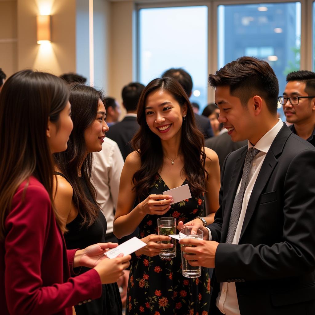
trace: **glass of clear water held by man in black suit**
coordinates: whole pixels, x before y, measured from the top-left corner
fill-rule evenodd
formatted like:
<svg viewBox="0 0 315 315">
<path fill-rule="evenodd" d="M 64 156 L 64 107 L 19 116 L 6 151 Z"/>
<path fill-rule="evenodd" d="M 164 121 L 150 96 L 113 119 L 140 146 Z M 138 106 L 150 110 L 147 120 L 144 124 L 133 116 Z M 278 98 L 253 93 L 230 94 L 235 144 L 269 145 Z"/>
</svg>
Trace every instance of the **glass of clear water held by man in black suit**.
<svg viewBox="0 0 315 315">
<path fill-rule="evenodd" d="M 196 231 L 196 234 L 192 234 L 192 229 Z M 179 239 L 186 239 L 186 238 L 194 238 L 194 239 L 203 239 L 203 232 L 196 227 L 187 226 L 180 230 L 179 232 Z M 180 245 L 182 249 L 184 246 L 191 246 L 195 247 L 195 245 Z M 181 265 L 183 270 L 183 276 L 186 278 L 198 278 L 201 276 L 201 266 L 191 266 L 188 263 L 188 260 L 184 257 L 184 252 L 181 251 Z"/>
</svg>

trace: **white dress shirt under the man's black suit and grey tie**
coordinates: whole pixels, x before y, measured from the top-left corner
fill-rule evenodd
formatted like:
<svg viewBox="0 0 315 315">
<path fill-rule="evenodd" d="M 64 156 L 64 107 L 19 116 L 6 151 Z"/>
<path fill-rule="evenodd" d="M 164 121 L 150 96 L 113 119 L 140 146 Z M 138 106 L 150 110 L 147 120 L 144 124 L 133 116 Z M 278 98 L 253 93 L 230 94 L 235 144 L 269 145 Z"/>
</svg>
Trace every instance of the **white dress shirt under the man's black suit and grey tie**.
<svg viewBox="0 0 315 315">
<path fill-rule="evenodd" d="M 248 141 L 248 149 L 254 147 L 255 149 L 260 150 L 253 159 L 252 165 L 249 169 L 248 174 L 248 185 L 244 192 L 244 198 L 242 203 L 242 209 L 241 214 L 238 219 L 238 225 L 236 227 L 235 235 L 232 241 L 232 244 L 238 244 L 243 222 L 246 214 L 247 205 L 249 202 L 249 198 L 251 195 L 251 192 L 254 188 L 256 179 L 258 177 L 258 174 L 260 172 L 261 166 L 265 160 L 266 154 L 268 150 L 270 149 L 270 146 L 275 139 L 276 135 L 280 131 L 280 129 L 283 127 L 283 122 L 281 119 L 279 119 L 278 123 L 276 123 L 272 129 L 270 129 L 264 136 L 261 137 L 261 139 L 256 143 L 255 146 L 253 146 Z M 236 194 L 238 194 L 241 182 L 239 182 L 238 189 Z M 211 232 L 209 230 L 209 240 L 211 240 Z M 237 299 L 237 293 L 236 293 L 236 287 L 234 282 L 223 282 L 220 283 L 220 292 L 216 299 L 216 306 L 219 308 L 220 312 L 226 315 L 240 315 L 239 306 L 238 306 L 238 299 Z"/>
</svg>

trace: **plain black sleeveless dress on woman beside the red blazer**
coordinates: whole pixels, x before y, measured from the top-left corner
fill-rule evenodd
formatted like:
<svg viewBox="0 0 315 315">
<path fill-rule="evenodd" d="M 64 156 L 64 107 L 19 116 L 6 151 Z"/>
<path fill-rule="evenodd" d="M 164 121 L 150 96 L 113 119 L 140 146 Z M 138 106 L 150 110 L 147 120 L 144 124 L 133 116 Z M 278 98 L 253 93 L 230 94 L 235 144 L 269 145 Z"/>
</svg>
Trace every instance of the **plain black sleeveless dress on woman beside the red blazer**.
<svg viewBox="0 0 315 315">
<path fill-rule="evenodd" d="M 64 177 L 61 173 L 56 174 Z M 67 179 L 66 179 L 67 180 Z M 93 202 L 88 186 L 83 177 L 79 178 L 87 198 Z M 83 249 L 96 243 L 105 243 L 105 234 L 107 229 L 106 218 L 99 210 L 98 218 L 90 226 L 82 226 L 83 219 L 80 214 L 66 225 L 68 232 L 65 233 L 67 249 Z M 90 270 L 88 267 L 82 267 L 79 274 Z M 89 303 L 74 306 L 77 315 L 121 315 L 122 304 L 117 283 L 103 284 L 102 295 L 99 299 L 92 300 Z"/>
</svg>

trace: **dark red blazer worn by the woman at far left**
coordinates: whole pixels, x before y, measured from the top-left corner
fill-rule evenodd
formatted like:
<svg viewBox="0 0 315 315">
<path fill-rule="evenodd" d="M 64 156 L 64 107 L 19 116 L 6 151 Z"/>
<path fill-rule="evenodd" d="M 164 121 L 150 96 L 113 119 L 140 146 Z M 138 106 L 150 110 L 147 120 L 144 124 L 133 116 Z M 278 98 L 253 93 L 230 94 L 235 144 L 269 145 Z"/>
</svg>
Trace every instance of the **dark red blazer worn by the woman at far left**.
<svg viewBox="0 0 315 315">
<path fill-rule="evenodd" d="M 98 273 L 88 272 L 69 278 L 62 283 L 63 266 L 60 257 L 49 256 L 50 248 L 57 240 L 48 236 L 49 227 L 55 222 L 48 193 L 43 187 L 29 186 L 26 191 L 18 191 L 12 210 L 5 220 L 5 295 L 10 314 L 52 314 L 87 299 L 101 295 L 101 282 Z M 56 228 L 56 227 L 55 227 Z M 56 233 L 57 235 L 57 233 Z M 61 235 L 60 235 L 61 236 Z M 62 243 L 62 242 L 60 242 Z M 55 246 L 57 253 L 62 245 Z M 45 256 L 43 253 L 46 252 Z M 75 251 L 71 253 L 74 255 Z M 42 266 L 51 264 L 52 274 L 61 274 L 50 286 L 43 286 Z M 58 259 L 55 261 L 55 259 Z M 56 269 L 61 269 L 56 273 Z M 65 268 L 66 269 L 66 268 Z M 58 283 L 59 282 L 59 283 Z"/>
</svg>

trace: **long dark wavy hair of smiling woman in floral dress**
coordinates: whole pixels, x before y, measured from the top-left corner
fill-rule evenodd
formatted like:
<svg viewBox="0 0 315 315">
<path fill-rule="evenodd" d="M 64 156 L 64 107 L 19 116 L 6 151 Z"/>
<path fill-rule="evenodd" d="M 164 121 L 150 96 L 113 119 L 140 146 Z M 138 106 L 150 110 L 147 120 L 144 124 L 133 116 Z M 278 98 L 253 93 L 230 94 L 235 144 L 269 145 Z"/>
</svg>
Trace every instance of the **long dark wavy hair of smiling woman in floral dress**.
<svg viewBox="0 0 315 315">
<path fill-rule="evenodd" d="M 137 121 L 139 131 L 132 139 L 132 145 L 141 159 L 141 167 L 133 175 L 134 189 L 138 198 L 146 198 L 154 184 L 154 177 L 163 165 L 161 139 L 154 134 L 146 123 L 145 106 L 150 93 L 163 90 L 174 97 L 181 107 L 187 106 L 186 120 L 181 127 L 180 150 L 184 157 L 184 171 L 192 194 L 198 196 L 205 192 L 206 154 L 204 153 L 203 135 L 196 127 L 192 105 L 182 86 L 173 78 L 157 78 L 152 80 L 142 91 L 138 103 Z"/>
</svg>

